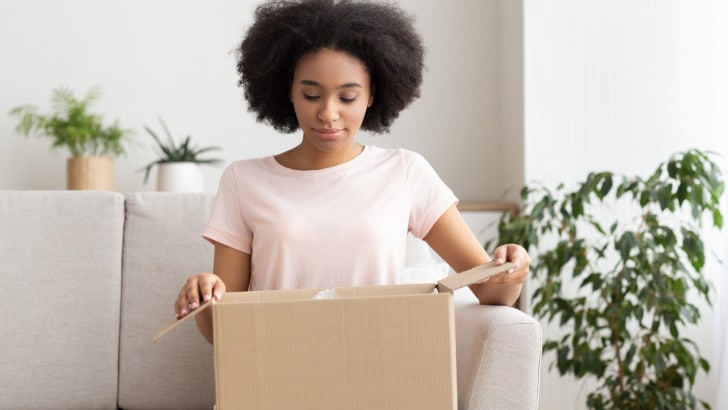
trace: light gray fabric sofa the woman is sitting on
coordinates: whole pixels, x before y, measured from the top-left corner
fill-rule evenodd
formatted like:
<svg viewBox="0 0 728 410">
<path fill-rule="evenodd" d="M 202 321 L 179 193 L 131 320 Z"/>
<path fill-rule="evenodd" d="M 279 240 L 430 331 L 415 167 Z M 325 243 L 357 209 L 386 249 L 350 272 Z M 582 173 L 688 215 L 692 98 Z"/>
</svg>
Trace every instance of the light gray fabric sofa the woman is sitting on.
<svg viewBox="0 0 728 410">
<path fill-rule="evenodd" d="M 210 409 L 212 347 L 157 344 L 189 274 L 212 266 L 207 194 L 0 191 L 0 409 Z M 541 331 L 456 292 L 460 409 L 534 409 Z"/>
</svg>

